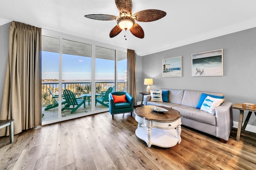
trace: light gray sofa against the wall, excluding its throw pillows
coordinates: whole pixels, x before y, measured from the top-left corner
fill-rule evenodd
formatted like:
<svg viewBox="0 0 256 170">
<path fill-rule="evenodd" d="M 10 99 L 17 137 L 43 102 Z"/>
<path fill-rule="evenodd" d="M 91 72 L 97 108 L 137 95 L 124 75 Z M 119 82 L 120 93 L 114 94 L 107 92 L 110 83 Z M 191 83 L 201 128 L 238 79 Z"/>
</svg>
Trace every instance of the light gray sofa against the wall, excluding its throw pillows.
<svg viewBox="0 0 256 170">
<path fill-rule="evenodd" d="M 195 90 L 160 90 L 169 90 L 168 102 L 152 102 L 150 101 L 150 95 L 145 95 L 144 106 L 155 105 L 176 109 L 183 116 L 181 119 L 182 125 L 218 137 L 220 138 L 220 141 L 224 143 L 228 141 L 233 127 L 232 103 L 223 102 L 220 106 L 216 107 L 215 115 L 196 108 L 202 93 L 214 96 L 224 96 L 223 93 L 201 92 Z"/>
</svg>

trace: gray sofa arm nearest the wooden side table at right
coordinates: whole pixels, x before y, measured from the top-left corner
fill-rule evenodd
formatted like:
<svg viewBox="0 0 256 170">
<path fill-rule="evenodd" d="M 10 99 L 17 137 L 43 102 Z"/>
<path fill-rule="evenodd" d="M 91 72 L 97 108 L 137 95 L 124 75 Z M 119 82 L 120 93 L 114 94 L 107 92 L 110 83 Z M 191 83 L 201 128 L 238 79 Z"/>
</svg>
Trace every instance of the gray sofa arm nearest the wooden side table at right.
<svg viewBox="0 0 256 170">
<path fill-rule="evenodd" d="M 231 102 L 223 102 L 215 109 L 216 137 L 228 141 L 233 127 L 233 109 Z"/>
</svg>

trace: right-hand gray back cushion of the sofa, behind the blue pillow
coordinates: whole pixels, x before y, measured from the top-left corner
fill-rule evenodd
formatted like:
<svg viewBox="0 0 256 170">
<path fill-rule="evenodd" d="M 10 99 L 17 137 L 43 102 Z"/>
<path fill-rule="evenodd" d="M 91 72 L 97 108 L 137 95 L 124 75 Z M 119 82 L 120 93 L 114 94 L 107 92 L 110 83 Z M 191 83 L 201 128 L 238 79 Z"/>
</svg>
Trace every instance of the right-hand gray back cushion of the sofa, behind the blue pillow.
<svg viewBox="0 0 256 170">
<path fill-rule="evenodd" d="M 201 92 L 196 90 L 184 90 L 182 105 L 196 107 L 201 98 L 202 93 L 211 94 L 214 96 L 224 96 L 223 93 L 214 93 L 214 92 Z"/>
</svg>

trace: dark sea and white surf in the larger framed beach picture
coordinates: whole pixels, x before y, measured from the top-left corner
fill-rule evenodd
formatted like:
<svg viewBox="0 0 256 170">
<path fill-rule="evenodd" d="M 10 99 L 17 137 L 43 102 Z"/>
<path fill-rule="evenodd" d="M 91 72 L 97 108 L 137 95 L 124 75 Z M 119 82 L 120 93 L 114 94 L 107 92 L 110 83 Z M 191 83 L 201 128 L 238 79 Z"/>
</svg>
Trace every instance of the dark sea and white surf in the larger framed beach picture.
<svg viewBox="0 0 256 170">
<path fill-rule="evenodd" d="M 222 67 L 222 57 L 221 55 L 218 55 L 213 57 L 205 57 L 201 59 L 193 59 L 192 63 L 193 63 L 192 65 L 193 69 Z"/>
</svg>

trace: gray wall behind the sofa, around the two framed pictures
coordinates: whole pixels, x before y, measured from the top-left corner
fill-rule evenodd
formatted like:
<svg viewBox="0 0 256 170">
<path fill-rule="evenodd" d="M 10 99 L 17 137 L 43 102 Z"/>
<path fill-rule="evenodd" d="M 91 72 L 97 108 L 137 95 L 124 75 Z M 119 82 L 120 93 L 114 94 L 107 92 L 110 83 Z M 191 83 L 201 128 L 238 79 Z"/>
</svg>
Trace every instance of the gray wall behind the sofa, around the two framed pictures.
<svg viewBox="0 0 256 170">
<path fill-rule="evenodd" d="M 191 55 L 216 49 L 223 49 L 224 76 L 192 77 Z M 182 77 L 162 77 L 162 59 L 178 56 L 182 56 Z M 225 100 L 233 104 L 256 104 L 255 64 L 256 28 L 252 28 L 143 56 L 142 78 L 153 78 L 152 90 L 170 88 L 222 92 Z M 145 85 L 142 86 L 146 89 Z M 233 115 L 234 121 L 238 122 L 239 111 L 233 109 Z M 256 126 L 254 114 L 248 125 Z"/>
</svg>

